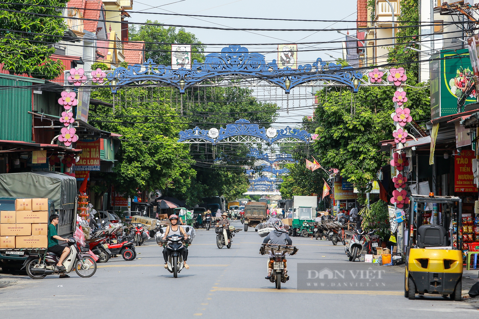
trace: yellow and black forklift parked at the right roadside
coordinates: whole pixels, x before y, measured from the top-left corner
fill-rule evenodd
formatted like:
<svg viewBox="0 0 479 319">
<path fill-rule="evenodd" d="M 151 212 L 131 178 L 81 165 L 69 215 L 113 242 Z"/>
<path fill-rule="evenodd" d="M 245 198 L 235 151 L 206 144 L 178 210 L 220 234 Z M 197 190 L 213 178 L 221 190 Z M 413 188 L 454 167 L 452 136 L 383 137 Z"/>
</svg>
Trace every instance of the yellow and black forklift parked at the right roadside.
<svg viewBox="0 0 479 319">
<path fill-rule="evenodd" d="M 414 194 L 410 200 L 404 296 L 412 300 L 416 294 L 431 294 L 460 301 L 462 200 L 433 193 L 429 196 Z M 424 206 L 427 203 L 442 205 L 440 225 L 427 224 L 421 203 Z M 433 216 L 430 222 L 433 223 Z"/>
</svg>

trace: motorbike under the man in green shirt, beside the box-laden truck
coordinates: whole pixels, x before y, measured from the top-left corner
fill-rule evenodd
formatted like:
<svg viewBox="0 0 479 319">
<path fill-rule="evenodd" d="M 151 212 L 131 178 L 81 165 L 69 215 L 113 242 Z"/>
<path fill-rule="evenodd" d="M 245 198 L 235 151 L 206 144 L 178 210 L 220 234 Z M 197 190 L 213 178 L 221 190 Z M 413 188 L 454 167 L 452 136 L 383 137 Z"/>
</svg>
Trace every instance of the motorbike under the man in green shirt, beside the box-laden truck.
<svg viewBox="0 0 479 319">
<path fill-rule="evenodd" d="M 46 251 L 46 253 L 32 253 L 25 261 L 24 267 L 28 276 L 32 279 L 42 279 L 49 274 L 69 273 L 73 269 L 83 278 L 91 277 L 96 272 L 96 262 L 90 255 L 88 245 L 80 247 L 74 238 L 68 239 L 70 253 L 63 262 L 66 270 L 59 270 L 57 263 L 59 255 Z"/>
</svg>

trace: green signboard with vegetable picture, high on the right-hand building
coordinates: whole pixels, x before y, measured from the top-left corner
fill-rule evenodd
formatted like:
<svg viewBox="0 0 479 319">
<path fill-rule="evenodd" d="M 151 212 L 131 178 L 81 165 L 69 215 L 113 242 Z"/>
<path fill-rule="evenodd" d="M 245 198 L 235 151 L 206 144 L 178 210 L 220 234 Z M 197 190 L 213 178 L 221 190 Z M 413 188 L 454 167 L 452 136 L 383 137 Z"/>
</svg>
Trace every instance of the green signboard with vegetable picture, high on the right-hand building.
<svg viewBox="0 0 479 319">
<path fill-rule="evenodd" d="M 431 118 L 457 114 L 457 100 L 474 82 L 468 49 L 441 50 L 432 56 L 430 67 Z M 476 102 L 476 91 L 467 94 L 464 105 Z M 464 112 L 464 105 L 460 112 Z"/>
</svg>

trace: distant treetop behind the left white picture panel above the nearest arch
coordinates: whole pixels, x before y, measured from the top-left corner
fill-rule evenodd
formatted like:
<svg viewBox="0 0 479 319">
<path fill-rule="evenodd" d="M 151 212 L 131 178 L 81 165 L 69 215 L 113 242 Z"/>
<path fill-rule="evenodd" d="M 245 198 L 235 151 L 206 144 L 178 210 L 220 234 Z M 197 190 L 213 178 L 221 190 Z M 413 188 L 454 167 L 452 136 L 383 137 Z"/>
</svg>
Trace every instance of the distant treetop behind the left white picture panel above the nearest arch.
<svg viewBox="0 0 479 319">
<path fill-rule="evenodd" d="M 147 20 L 147 23 L 158 21 Z M 141 25 L 136 28 L 131 25 L 128 31 L 130 41 L 145 41 L 145 60 L 153 59 L 156 64 L 171 65 L 171 44 L 172 43 L 201 43 L 191 32 L 186 32 L 184 28 L 176 30 L 175 27 L 165 28 L 161 25 Z M 191 46 L 192 63 L 194 60 L 203 62 L 205 46 Z"/>
</svg>

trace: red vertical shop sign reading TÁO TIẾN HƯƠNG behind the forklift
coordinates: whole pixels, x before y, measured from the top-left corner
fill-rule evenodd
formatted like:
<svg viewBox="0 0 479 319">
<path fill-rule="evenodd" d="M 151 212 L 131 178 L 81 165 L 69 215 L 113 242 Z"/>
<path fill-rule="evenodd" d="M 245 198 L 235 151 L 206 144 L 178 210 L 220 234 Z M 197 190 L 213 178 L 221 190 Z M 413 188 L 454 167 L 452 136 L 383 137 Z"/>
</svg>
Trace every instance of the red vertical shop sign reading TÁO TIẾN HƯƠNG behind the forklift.
<svg viewBox="0 0 479 319">
<path fill-rule="evenodd" d="M 472 174 L 472 159 L 475 159 L 474 151 L 463 150 L 454 157 L 454 192 L 470 193 L 477 192 L 474 186 Z"/>
</svg>

